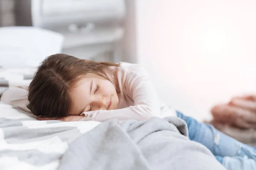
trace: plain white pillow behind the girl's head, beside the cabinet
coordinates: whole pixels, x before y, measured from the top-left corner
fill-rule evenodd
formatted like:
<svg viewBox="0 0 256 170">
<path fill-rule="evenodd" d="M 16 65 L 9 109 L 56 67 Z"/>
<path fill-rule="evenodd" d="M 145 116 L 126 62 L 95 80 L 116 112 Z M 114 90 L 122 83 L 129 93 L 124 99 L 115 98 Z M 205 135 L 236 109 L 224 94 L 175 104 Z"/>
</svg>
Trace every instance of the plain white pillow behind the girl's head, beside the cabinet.
<svg viewBox="0 0 256 170">
<path fill-rule="evenodd" d="M 61 53 L 64 36 L 36 27 L 0 28 L 0 67 L 36 68 L 49 55 Z"/>
</svg>

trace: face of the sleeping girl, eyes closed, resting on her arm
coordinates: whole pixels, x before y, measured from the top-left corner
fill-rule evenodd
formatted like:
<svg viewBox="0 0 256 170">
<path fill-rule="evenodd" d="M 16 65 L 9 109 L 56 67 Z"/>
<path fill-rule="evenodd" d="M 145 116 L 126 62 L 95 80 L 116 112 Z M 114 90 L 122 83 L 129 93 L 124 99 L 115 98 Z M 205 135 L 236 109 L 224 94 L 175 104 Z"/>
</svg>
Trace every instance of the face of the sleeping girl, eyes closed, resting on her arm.
<svg viewBox="0 0 256 170">
<path fill-rule="evenodd" d="M 73 108 L 70 115 L 80 115 L 87 111 L 113 110 L 119 103 L 112 82 L 89 75 L 77 82 L 71 90 Z"/>
</svg>

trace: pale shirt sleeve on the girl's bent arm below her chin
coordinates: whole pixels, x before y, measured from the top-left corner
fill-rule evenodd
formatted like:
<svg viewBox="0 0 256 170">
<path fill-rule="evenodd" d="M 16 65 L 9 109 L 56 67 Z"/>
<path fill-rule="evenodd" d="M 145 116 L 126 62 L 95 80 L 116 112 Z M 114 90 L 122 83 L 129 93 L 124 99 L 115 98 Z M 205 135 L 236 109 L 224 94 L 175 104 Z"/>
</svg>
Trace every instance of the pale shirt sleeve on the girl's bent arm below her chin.
<svg viewBox="0 0 256 170">
<path fill-rule="evenodd" d="M 131 92 L 134 106 L 116 110 L 98 110 L 84 112 L 84 118 L 79 121 L 99 121 L 117 118 L 120 121 L 127 119 L 146 120 L 153 116 L 160 116 L 160 101 L 157 91 L 150 78 L 145 73 L 128 73 L 125 84 L 122 85 L 126 91 Z"/>
</svg>

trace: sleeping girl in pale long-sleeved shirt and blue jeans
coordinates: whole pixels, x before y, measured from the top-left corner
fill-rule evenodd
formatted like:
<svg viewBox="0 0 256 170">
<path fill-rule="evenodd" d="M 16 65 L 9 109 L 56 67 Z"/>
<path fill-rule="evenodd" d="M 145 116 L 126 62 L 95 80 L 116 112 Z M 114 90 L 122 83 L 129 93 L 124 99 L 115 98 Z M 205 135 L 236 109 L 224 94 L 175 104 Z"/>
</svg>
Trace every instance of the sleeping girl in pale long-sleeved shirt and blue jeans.
<svg viewBox="0 0 256 170">
<path fill-rule="evenodd" d="M 253 147 L 164 105 L 138 64 L 51 55 L 39 66 L 27 97 L 27 108 L 38 120 L 104 122 L 177 116 L 186 122 L 189 139 L 206 146 L 228 170 L 256 169 Z"/>
</svg>

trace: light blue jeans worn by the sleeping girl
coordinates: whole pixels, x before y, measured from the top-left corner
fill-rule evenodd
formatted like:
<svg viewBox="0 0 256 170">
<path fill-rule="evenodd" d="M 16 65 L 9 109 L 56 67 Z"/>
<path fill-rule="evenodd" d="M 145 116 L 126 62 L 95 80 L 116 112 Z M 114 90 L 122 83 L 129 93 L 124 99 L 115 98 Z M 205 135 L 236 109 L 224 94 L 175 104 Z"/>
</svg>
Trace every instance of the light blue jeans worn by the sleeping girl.
<svg viewBox="0 0 256 170">
<path fill-rule="evenodd" d="M 221 133 L 212 125 L 199 123 L 178 111 L 177 116 L 188 125 L 189 139 L 206 146 L 228 170 L 256 170 L 256 149 Z"/>
</svg>

